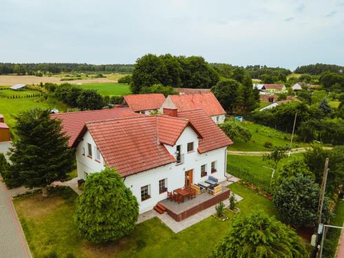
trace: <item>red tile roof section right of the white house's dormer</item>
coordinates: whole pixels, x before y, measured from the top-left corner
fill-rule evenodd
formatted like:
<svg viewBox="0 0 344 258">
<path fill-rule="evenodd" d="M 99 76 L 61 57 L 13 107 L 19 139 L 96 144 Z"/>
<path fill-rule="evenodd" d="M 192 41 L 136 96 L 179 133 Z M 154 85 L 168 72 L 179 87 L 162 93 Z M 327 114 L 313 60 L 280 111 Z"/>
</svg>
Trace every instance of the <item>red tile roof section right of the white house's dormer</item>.
<svg viewBox="0 0 344 258">
<path fill-rule="evenodd" d="M 204 153 L 233 144 L 232 140 L 220 129 L 203 109 L 178 112 L 178 118 L 186 118 L 201 134 L 198 152 Z"/>
</svg>

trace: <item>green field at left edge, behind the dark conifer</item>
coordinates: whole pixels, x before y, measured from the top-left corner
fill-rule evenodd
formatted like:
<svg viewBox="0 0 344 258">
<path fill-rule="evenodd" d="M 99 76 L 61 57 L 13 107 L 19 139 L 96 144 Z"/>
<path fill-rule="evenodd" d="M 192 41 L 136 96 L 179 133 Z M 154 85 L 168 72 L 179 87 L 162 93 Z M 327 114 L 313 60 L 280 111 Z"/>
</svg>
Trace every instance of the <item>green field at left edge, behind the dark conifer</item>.
<svg viewBox="0 0 344 258">
<path fill-rule="evenodd" d="M 67 105 L 55 100 L 54 98 L 47 98 L 47 100 L 41 96 L 24 98 L 31 94 L 41 95 L 40 92 L 32 90 L 23 90 L 19 92 L 14 92 L 11 89 L 0 90 L 0 114 L 5 116 L 5 122 L 10 128 L 15 125 L 14 117 L 17 116 L 19 112 L 27 109 L 39 107 L 43 109 L 58 109 L 63 112 L 67 111 Z M 8 98 L 12 96 L 21 96 L 21 98 Z"/>
</svg>

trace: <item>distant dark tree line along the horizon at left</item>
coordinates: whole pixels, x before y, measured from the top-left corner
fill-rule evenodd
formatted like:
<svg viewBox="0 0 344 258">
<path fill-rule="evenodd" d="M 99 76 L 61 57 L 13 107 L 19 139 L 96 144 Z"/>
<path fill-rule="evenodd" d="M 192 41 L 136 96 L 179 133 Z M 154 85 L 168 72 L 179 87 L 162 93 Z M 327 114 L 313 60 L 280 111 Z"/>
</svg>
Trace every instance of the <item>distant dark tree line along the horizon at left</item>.
<svg viewBox="0 0 344 258">
<path fill-rule="evenodd" d="M 133 65 L 92 65 L 87 63 L 0 63 L 0 74 L 33 75 L 61 72 L 133 72 Z"/>
</svg>

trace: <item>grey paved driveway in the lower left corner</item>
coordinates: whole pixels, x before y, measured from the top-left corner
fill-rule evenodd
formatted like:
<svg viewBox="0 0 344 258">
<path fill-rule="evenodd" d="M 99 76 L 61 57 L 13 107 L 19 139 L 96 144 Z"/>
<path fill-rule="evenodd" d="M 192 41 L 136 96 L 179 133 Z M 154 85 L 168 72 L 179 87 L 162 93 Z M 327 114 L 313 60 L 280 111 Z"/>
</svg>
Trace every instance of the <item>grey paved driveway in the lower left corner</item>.
<svg viewBox="0 0 344 258">
<path fill-rule="evenodd" d="M 30 258 L 30 250 L 14 210 L 12 197 L 0 176 L 0 258 Z"/>
</svg>

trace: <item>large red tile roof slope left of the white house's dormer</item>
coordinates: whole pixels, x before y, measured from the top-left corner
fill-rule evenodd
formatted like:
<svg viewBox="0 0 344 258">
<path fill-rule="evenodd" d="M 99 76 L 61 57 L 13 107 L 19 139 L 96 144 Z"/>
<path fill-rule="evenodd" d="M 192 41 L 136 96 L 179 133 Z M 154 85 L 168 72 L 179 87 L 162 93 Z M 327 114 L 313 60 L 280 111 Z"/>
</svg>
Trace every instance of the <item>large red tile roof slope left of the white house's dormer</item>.
<svg viewBox="0 0 344 258">
<path fill-rule="evenodd" d="M 159 116 L 91 122 L 86 124 L 80 137 L 87 129 L 105 163 L 126 176 L 175 162 L 161 142 L 173 142 L 188 123 L 183 119 Z M 162 131 L 164 125 L 171 125 L 171 128 Z M 171 133 L 171 138 L 166 133 Z"/>
</svg>

